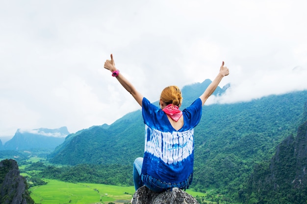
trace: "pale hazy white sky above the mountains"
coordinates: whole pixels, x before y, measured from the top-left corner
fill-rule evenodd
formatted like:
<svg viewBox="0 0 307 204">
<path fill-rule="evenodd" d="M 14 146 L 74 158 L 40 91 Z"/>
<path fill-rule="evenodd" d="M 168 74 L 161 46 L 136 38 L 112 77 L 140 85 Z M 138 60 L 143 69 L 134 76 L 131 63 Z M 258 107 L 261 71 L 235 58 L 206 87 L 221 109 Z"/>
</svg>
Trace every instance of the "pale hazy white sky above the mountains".
<svg viewBox="0 0 307 204">
<path fill-rule="evenodd" d="M 306 0 L 0 0 L 0 136 L 69 132 L 140 109 L 103 63 L 149 100 L 213 80 L 208 104 L 307 89 Z M 183 101 L 184 103 L 184 101 Z"/>
</svg>

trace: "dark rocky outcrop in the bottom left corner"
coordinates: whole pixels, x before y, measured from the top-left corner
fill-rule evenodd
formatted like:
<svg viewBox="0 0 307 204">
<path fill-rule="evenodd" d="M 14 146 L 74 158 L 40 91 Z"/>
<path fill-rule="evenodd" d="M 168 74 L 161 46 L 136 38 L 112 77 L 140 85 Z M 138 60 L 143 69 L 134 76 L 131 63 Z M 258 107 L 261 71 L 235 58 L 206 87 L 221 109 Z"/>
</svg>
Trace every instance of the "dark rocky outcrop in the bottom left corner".
<svg viewBox="0 0 307 204">
<path fill-rule="evenodd" d="M 0 204 L 34 204 L 14 159 L 0 162 Z"/>
</svg>

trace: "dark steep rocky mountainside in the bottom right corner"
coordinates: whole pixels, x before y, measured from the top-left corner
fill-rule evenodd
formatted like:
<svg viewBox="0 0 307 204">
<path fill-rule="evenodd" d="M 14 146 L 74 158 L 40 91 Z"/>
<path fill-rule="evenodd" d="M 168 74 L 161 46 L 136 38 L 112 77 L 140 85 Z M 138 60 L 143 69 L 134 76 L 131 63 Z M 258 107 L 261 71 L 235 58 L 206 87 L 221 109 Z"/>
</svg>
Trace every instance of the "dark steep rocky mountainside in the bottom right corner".
<svg viewBox="0 0 307 204">
<path fill-rule="evenodd" d="M 255 167 L 242 200 L 251 204 L 305 203 L 306 167 L 307 121 L 299 127 L 297 136 L 290 135 L 277 146 L 270 162 L 263 161 Z"/>
</svg>

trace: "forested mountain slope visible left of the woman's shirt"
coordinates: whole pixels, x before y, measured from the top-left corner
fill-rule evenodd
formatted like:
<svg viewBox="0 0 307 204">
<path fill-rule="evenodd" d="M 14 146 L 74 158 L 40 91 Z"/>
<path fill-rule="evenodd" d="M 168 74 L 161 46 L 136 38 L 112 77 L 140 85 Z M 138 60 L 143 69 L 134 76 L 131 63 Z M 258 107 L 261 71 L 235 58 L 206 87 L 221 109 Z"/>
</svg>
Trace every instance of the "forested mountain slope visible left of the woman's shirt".
<svg viewBox="0 0 307 204">
<path fill-rule="evenodd" d="M 128 113 L 107 128 L 93 126 L 67 136 L 51 154 L 51 162 L 70 165 L 130 164 L 136 155 L 142 156 L 143 150 L 138 146 L 143 144 L 143 134 L 141 111 Z"/>
</svg>

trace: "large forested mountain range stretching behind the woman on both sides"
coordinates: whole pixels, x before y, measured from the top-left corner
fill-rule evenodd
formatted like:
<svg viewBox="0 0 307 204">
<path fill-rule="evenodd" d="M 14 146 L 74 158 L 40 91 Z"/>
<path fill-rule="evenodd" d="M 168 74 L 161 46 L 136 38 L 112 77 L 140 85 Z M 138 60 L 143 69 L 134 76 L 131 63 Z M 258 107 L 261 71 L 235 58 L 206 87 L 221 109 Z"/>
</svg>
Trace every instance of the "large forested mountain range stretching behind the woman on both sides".
<svg viewBox="0 0 307 204">
<path fill-rule="evenodd" d="M 182 108 L 199 97 L 209 82 L 183 87 Z M 225 89 L 219 88 L 215 94 L 222 94 Z M 199 191 L 214 188 L 238 196 L 255 165 L 270 159 L 276 146 L 306 119 L 306 101 L 307 91 L 295 91 L 250 102 L 204 106 L 195 128 L 191 187 Z M 132 169 L 134 159 L 144 152 L 142 113 L 138 110 L 109 126 L 82 130 L 67 136 L 64 143 L 50 155 L 51 162 L 121 164 Z"/>
</svg>

